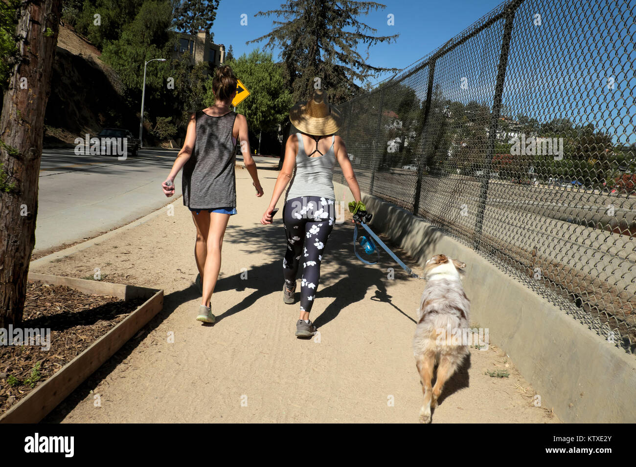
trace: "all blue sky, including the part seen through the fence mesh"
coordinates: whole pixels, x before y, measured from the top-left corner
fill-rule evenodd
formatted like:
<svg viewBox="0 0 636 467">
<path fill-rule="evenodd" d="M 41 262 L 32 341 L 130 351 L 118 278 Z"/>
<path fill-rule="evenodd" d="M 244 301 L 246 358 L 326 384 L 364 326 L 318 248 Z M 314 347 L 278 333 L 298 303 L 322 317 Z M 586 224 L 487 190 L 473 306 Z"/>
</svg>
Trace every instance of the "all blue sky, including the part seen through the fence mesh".
<svg viewBox="0 0 636 467">
<path fill-rule="evenodd" d="M 636 142 L 635 123 L 630 117 L 636 109 L 632 94 L 636 74 L 630 66 L 636 59 L 633 43 L 636 25 L 628 19 L 633 8 L 633 4 L 629 6 L 631 1 L 618 2 L 621 6 L 617 7 L 614 0 L 595 0 L 584 9 L 578 8 L 577 0 L 564 0 L 562 8 L 556 9 L 541 1 L 522 4 L 515 15 L 504 86 L 503 104 L 509 108 L 509 114 L 524 114 L 539 121 L 569 118 L 579 125 L 593 123 L 612 135 L 614 142 Z M 282 0 L 221 0 L 212 27 L 214 42 L 225 44 L 226 48 L 231 44 L 235 56 L 261 48 L 266 41 L 249 45 L 245 41 L 272 30 L 272 22 L 277 18 L 254 17 L 254 14 L 280 8 L 282 3 Z M 391 44 L 371 47 L 367 62 L 408 68 L 501 3 L 385 0 L 386 8 L 357 19 L 377 29 L 375 36 L 399 34 L 399 37 Z M 533 24 L 537 11 L 543 17 L 541 27 Z M 387 24 L 389 14 L 393 15 L 394 25 Z M 241 25 L 241 15 L 247 15 L 247 25 Z M 570 28 L 563 30 L 563 25 Z M 501 20 L 441 58 L 435 79 L 446 98 L 492 103 L 502 27 Z M 275 60 L 279 60 L 279 51 L 273 50 Z M 361 44 L 358 52 L 365 57 L 366 44 Z M 392 74 L 385 72 L 371 83 L 377 84 Z M 422 76 L 413 78 L 420 85 L 414 88 L 419 98 L 424 98 L 421 94 L 425 92 Z M 616 79 L 611 90 L 607 87 L 608 77 Z M 460 88 L 460 79 L 470 83 L 466 90 Z"/>
</svg>

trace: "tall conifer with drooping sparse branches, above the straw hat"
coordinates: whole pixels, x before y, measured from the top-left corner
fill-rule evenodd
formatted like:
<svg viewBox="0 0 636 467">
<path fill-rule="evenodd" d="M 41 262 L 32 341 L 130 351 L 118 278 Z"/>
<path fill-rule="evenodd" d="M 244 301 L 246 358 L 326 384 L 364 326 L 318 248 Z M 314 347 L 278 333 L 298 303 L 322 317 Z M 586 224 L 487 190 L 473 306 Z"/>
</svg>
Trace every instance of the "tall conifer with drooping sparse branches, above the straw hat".
<svg viewBox="0 0 636 467">
<path fill-rule="evenodd" d="M 356 17 L 368 15 L 371 10 L 386 8 L 373 1 L 339 0 L 287 0 L 280 10 L 259 11 L 255 16 L 276 15 L 286 21 L 272 32 L 249 43 L 269 39 L 264 48 L 282 48 L 284 78 L 293 90 L 295 100 L 306 100 L 314 88 L 327 91 L 334 103 L 350 98 L 360 86 L 383 71 L 394 68 L 375 67 L 367 57 L 357 52 L 360 42 L 368 47 L 377 43 L 391 43 L 393 36 L 371 36 L 377 30 Z"/>
</svg>

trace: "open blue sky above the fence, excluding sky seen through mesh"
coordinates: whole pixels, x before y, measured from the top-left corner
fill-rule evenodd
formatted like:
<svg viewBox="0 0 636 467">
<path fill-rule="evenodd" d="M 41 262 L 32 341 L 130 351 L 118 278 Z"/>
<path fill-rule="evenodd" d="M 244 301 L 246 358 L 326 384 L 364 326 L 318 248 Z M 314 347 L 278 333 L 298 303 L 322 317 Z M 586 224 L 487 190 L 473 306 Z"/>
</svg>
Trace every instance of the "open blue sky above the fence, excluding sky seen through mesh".
<svg viewBox="0 0 636 467">
<path fill-rule="evenodd" d="M 249 53 L 260 48 L 266 41 L 245 45 L 245 41 L 263 36 L 273 29 L 275 16 L 254 17 L 258 11 L 276 10 L 282 0 L 221 0 L 216 20 L 212 26 L 214 42 L 232 45 L 234 55 Z M 377 29 L 376 36 L 399 34 L 391 44 L 371 47 L 368 63 L 374 66 L 404 68 L 430 51 L 438 48 L 480 17 L 502 2 L 499 0 L 385 0 L 387 8 L 371 11 L 361 22 Z M 242 26 L 241 15 L 247 15 L 247 25 Z M 387 15 L 394 15 L 395 24 L 387 25 Z M 274 50 L 274 60 L 278 60 L 280 50 Z M 366 56 L 366 44 L 361 44 L 358 52 Z M 372 83 L 391 76 L 385 73 Z"/>
</svg>

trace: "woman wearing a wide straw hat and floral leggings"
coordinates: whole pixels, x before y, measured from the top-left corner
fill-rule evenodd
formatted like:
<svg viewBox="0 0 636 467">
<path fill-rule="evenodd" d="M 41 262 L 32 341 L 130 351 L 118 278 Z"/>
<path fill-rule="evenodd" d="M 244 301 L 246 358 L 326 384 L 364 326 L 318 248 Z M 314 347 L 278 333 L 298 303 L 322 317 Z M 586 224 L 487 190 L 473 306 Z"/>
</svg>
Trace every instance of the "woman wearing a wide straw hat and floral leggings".
<svg viewBox="0 0 636 467">
<path fill-rule="evenodd" d="M 296 273 L 302 263 L 296 336 L 310 337 L 315 334 L 316 328 L 309 320 L 309 313 L 320 280 L 324 249 L 335 224 L 333 168 L 336 161 L 356 202 L 361 201 L 360 187 L 345 144 L 335 135 L 342 117 L 337 109 L 329 105 L 324 91 L 315 90 L 310 100 L 294 105 L 289 111 L 289 120 L 300 133 L 287 139 L 284 163 L 261 224 L 272 223 L 273 210 L 289 184 L 282 210 L 287 236 L 282 262 L 285 278 L 283 300 L 287 304 L 294 303 Z"/>
</svg>

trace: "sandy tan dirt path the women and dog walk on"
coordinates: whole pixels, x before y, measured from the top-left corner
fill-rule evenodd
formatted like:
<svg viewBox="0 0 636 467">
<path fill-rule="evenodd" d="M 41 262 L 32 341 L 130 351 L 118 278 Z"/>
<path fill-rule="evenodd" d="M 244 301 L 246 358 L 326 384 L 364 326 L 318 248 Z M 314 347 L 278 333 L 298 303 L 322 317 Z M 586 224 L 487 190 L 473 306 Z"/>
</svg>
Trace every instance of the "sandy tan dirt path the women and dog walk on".
<svg viewBox="0 0 636 467">
<path fill-rule="evenodd" d="M 411 339 L 422 282 L 382 255 L 364 266 L 351 249 L 352 226 L 336 226 L 322 266 L 312 320 L 319 339 L 294 337 L 298 304 L 282 303 L 284 233 L 259 224 L 277 172 L 261 170 L 254 197 L 237 170 L 239 214 L 223 242 L 212 296 L 214 326 L 195 321 L 194 226 L 181 198 L 174 216 L 145 224 L 32 271 L 163 288 L 163 311 L 45 421 L 416 422 L 422 391 Z M 282 203 L 280 205 L 282 207 Z M 396 278 L 387 278 L 395 267 Z M 241 279 L 241 269 L 247 279 Z M 170 337 L 174 336 L 174 342 Z M 508 369 L 508 378 L 485 375 Z M 101 407 L 95 407 L 95 395 Z M 534 391 L 501 349 L 471 349 L 448 382 L 433 423 L 555 423 L 532 405 Z"/>
</svg>

